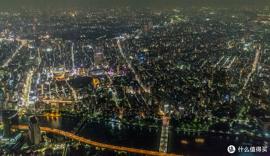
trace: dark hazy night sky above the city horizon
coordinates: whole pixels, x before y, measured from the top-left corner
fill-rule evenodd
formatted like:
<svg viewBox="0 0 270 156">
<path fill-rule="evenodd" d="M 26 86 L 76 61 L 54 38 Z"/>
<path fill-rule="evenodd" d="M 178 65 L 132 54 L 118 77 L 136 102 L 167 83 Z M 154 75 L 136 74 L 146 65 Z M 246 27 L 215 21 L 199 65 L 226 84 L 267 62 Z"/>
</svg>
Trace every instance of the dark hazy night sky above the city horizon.
<svg viewBox="0 0 270 156">
<path fill-rule="evenodd" d="M 242 7 L 270 6 L 270 0 L 0 0 L 0 6 L 14 7 Z"/>
</svg>

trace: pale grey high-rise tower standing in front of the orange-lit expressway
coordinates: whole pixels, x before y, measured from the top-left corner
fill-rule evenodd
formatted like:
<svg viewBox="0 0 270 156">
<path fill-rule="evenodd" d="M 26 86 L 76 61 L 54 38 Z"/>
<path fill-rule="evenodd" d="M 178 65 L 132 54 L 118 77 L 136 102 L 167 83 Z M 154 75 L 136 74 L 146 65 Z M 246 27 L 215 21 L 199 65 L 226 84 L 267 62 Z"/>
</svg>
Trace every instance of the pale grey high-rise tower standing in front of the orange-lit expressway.
<svg viewBox="0 0 270 156">
<path fill-rule="evenodd" d="M 39 144 L 41 142 L 41 133 L 36 117 L 29 118 L 29 137 L 32 144 Z"/>
</svg>

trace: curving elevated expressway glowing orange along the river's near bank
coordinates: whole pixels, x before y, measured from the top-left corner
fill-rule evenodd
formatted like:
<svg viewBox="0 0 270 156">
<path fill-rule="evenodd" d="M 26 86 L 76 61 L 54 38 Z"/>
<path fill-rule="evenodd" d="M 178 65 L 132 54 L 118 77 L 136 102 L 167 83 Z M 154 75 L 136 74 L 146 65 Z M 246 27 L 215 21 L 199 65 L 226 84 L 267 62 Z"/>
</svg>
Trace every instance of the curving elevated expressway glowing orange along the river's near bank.
<svg viewBox="0 0 270 156">
<path fill-rule="evenodd" d="M 28 126 L 12 126 L 12 128 L 14 128 L 14 129 L 28 129 Z M 74 134 L 69 133 L 69 132 L 65 132 L 65 131 L 61 131 L 61 130 L 57 130 L 57 129 L 51 129 L 51 128 L 47 128 L 47 127 L 40 127 L 40 130 L 49 131 L 49 132 L 53 132 L 53 133 L 58 133 L 60 135 L 63 135 L 63 136 L 78 140 L 78 141 L 86 143 L 86 144 L 90 144 L 90 145 L 94 145 L 94 146 L 98 146 L 98 147 L 102 147 L 102 148 L 109 148 L 109 149 L 112 149 L 112 150 L 141 153 L 141 154 L 146 154 L 146 155 L 180 156 L 180 155 L 174 155 L 174 154 L 166 154 L 166 153 L 160 153 L 160 152 L 153 152 L 153 151 L 138 150 L 138 149 L 133 149 L 133 148 L 125 148 L 125 147 L 118 147 L 118 146 L 100 144 L 100 143 L 96 143 L 94 141 L 87 140 L 85 138 L 75 136 Z"/>
</svg>

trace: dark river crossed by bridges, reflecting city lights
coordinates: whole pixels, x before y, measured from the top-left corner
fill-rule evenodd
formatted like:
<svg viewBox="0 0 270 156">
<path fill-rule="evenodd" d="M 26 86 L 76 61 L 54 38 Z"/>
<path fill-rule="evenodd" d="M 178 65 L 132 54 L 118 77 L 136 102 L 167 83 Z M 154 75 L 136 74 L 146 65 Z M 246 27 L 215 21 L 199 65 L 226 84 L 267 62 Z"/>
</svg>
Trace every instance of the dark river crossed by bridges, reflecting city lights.
<svg viewBox="0 0 270 156">
<path fill-rule="evenodd" d="M 28 125 L 28 118 L 29 116 L 26 115 L 19 116 L 20 125 Z M 42 127 L 50 127 L 68 132 L 71 132 L 80 121 L 80 118 L 47 116 L 36 118 Z M 77 133 L 77 136 L 99 143 L 158 151 L 160 134 L 161 130 L 156 129 L 117 125 L 97 120 L 87 120 Z M 204 142 L 197 143 L 195 142 L 196 138 L 204 139 Z M 188 141 L 188 144 L 182 144 L 181 140 Z M 250 145 L 245 145 L 246 143 Z M 219 133 L 205 134 L 170 130 L 168 134 L 167 153 L 184 156 L 269 156 L 270 149 L 267 150 L 267 152 L 244 152 L 244 150 L 243 152 L 238 152 L 238 147 L 241 146 L 242 148 L 247 146 L 249 149 L 251 146 L 268 147 L 268 144 L 269 141 L 265 142 L 259 139 L 250 139 L 245 136 L 228 137 L 226 134 Z M 234 145 L 236 148 L 236 151 L 232 154 L 227 151 L 229 145 Z"/>
</svg>

